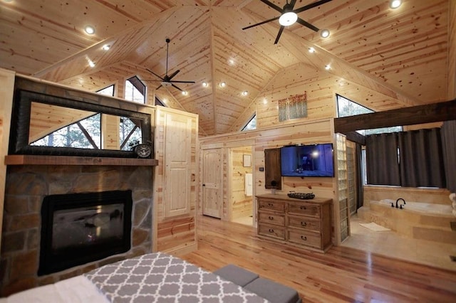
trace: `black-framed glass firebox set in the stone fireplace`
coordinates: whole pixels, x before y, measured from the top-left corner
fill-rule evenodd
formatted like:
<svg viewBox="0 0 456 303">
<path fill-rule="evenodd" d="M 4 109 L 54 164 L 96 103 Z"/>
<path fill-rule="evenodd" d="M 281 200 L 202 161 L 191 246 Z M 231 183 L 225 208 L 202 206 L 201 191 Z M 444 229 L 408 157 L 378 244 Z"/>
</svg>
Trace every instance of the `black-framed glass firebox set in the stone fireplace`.
<svg viewBox="0 0 456 303">
<path fill-rule="evenodd" d="M 130 190 L 44 197 L 38 275 L 130 250 L 132 205 Z"/>
</svg>

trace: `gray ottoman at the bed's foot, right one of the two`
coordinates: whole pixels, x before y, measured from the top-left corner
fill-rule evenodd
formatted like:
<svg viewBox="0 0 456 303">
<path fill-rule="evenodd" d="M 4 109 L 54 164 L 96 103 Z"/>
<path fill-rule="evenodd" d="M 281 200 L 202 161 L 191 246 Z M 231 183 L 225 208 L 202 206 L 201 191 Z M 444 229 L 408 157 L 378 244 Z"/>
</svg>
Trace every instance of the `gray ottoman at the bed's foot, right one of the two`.
<svg viewBox="0 0 456 303">
<path fill-rule="evenodd" d="M 258 294 L 260 297 L 263 297 L 271 303 L 301 302 L 299 294 L 296 290 L 261 277 L 244 286 L 244 289 Z"/>
</svg>

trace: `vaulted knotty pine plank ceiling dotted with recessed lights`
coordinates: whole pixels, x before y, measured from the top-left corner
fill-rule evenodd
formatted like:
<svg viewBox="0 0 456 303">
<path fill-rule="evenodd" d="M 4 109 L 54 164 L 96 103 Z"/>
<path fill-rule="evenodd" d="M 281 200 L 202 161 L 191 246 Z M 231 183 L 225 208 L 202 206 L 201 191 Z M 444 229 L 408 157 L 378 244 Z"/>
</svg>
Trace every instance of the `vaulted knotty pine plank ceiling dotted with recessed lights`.
<svg viewBox="0 0 456 303">
<path fill-rule="evenodd" d="M 154 90 L 145 68 L 165 75 L 170 38 L 169 74 L 179 69 L 173 80 L 196 83 L 180 85 L 187 96 L 154 91 L 197 113 L 202 134 L 231 131 L 274 75 L 294 65 L 312 73 L 331 63 L 329 73 L 384 92 L 396 107 L 420 105 L 446 100 L 450 1 L 403 0 L 393 10 L 388 0 L 333 0 L 299 14 L 329 38 L 295 24 L 274 45 L 276 22 L 242 30 L 278 16 L 258 0 L 0 0 L 0 67 L 87 90 L 139 75 Z M 83 31 L 89 24 L 93 35 Z"/>
</svg>

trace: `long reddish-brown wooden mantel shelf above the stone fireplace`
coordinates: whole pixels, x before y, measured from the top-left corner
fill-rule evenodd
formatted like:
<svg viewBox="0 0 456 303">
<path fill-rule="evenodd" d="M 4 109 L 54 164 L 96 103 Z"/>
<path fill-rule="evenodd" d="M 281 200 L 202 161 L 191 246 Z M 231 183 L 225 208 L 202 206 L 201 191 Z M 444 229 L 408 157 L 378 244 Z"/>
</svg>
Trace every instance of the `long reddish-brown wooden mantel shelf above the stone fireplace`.
<svg viewBox="0 0 456 303">
<path fill-rule="evenodd" d="M 97 156 L 36 156 L 8 155 L 6 165 L 113 165 L 113 166 L 157 166 L 157 159 L 108 158 Z"/>
</svg>

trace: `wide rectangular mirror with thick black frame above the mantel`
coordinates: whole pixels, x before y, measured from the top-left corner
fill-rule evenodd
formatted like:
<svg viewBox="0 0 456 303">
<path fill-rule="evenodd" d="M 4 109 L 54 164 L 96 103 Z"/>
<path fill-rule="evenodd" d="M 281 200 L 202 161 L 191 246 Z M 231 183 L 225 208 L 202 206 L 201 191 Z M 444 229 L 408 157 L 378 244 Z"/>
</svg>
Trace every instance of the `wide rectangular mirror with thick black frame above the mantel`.
<svg viewBox="0 0 456 303">
<path fill-rule="evenodd" d="M 93 100 L 90 92 L 79 94 Z M 125 110 L 121 100 L 99 98 L 101 104 L 95 104 L 81 96 L 73 99 L 16 87 L 9 154 L 137 157 L 136 144 L 152 144 L 151 116 Z M 107 106 L 106 100 L 119 106 Z"/>
</svg>

